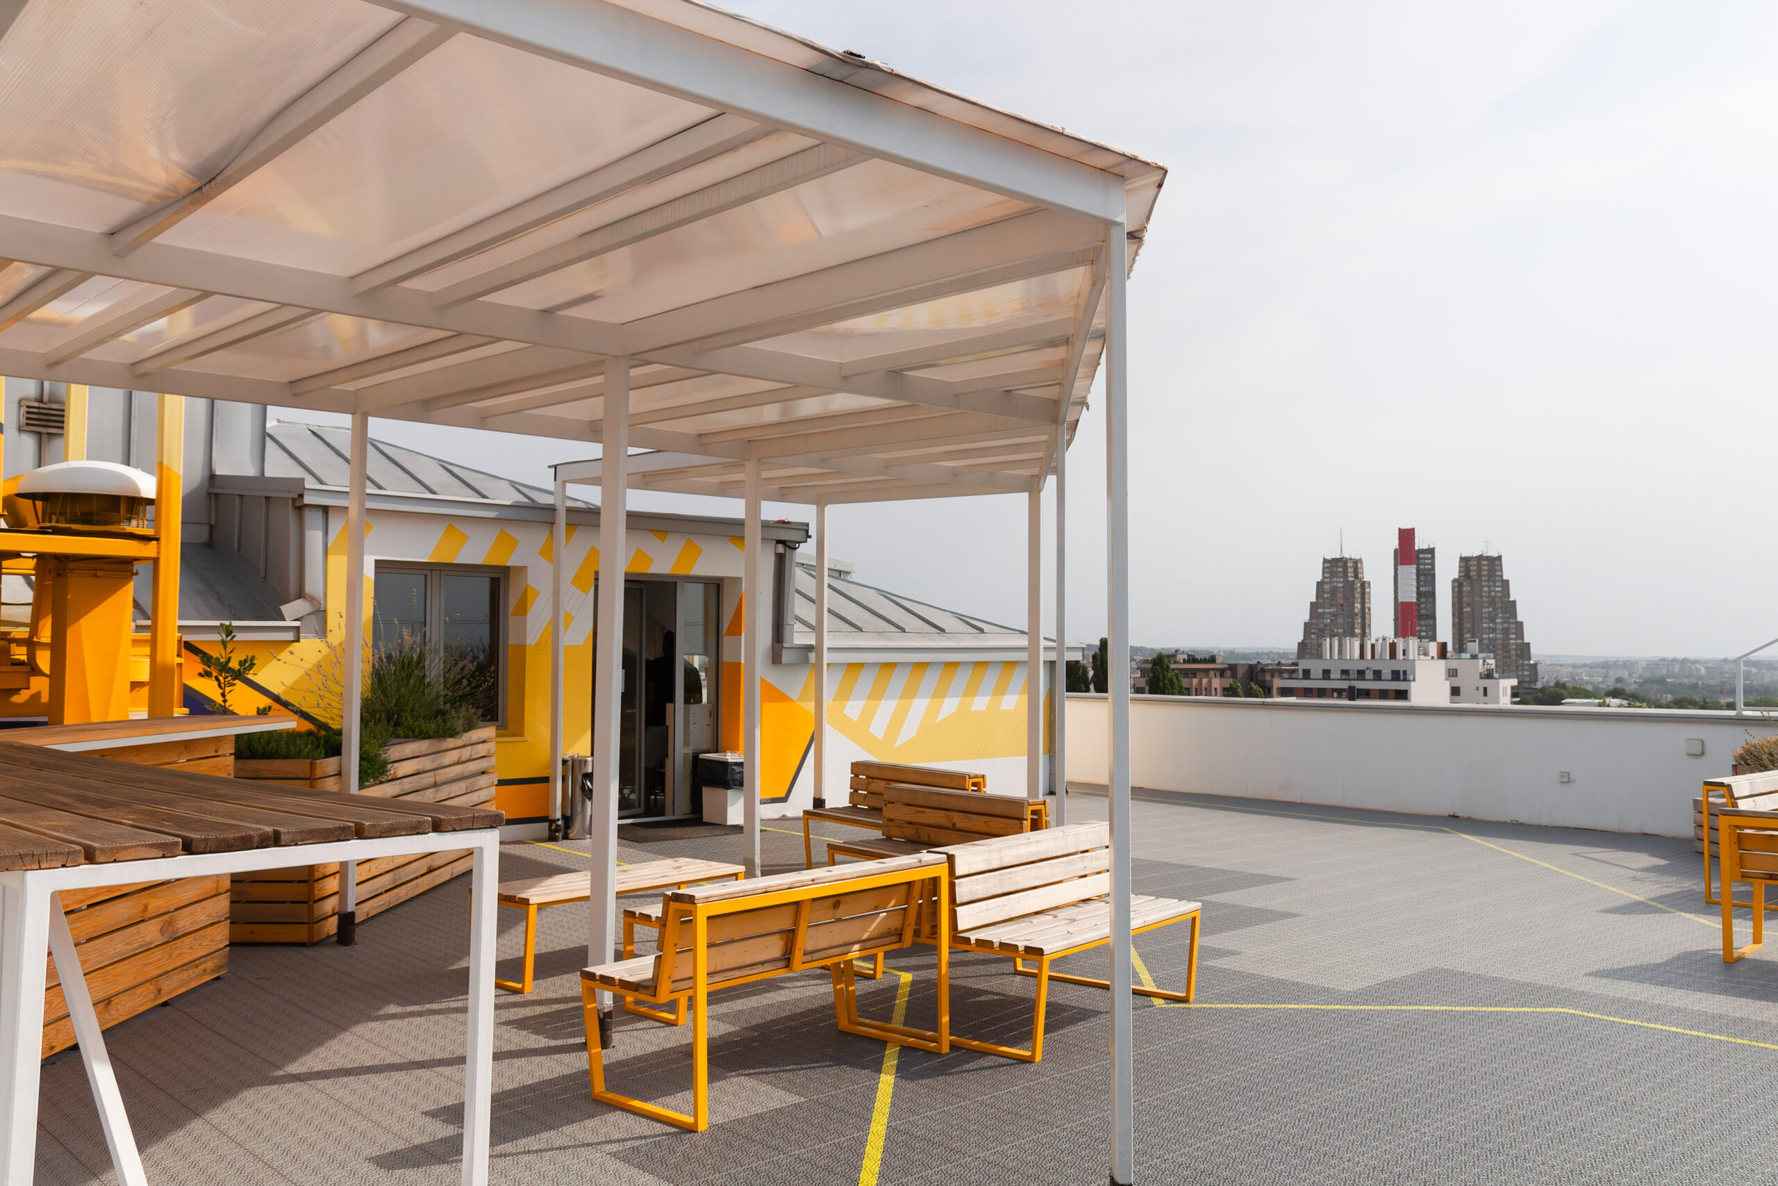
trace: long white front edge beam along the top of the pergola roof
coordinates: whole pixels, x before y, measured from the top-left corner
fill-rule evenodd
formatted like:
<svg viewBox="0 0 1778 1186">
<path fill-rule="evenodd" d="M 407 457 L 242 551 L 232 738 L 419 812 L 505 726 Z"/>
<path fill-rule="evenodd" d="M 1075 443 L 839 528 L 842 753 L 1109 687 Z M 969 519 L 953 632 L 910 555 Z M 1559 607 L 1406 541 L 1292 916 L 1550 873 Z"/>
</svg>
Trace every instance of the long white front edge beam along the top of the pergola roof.
<svg viewBox="0 0 1778 1186">
<path fill-rule="evenodd" d="M 605 0 L 372 2 L 1038 206 L 1101 222 L 1127 217 L 1124 178 L 1117 172 Z M 752 28 L 729 20 L 738 30 Z"/>
</svg>

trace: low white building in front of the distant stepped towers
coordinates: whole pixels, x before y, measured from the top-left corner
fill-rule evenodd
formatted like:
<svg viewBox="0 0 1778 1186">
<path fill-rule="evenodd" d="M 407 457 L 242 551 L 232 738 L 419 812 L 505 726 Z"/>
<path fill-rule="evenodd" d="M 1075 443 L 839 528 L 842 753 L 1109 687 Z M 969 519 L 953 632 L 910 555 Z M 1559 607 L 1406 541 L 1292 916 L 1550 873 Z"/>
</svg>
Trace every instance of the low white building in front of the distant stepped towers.
<svg viewBox="0 0 1778 1186">
<path fill-rule="evenodd" d="M 1277 695 L 1499 708 L 1511 704 L 1513 685 L 1492 658 L 1451 654 L 1426 638 L 1326 638 L 1298 661 L 1294 676 L 1278 681 Z"/>
</svg>

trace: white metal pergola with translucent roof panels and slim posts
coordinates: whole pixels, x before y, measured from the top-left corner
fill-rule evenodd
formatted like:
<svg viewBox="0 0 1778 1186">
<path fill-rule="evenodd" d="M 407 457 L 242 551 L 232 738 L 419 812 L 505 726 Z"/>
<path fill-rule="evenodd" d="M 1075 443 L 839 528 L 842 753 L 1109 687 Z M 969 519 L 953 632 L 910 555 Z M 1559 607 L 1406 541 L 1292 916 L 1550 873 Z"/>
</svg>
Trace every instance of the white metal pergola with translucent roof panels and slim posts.
<svg viewBox="0 0 1778 1186">
<path fill-rule="evenodd" d="M 0 373 L 350 414 L 348 571 L 370 416 L 597 443 L 601 621 L 629 487 L 745 496 L 750 583 L 761 500 L 813 503 L 825 549 L 829 505 L 1022 493 L 1035 557 L 1109 349 L 1127 653 L 1124 286 L 1159 165 L 690 0 L 0 0 Z M 348 581 L 347 621 L 363 596 Z M 617 645 L 601 633 L 606 857 Z M 1115 679 L 1117 1182 L 1127 718 Z M 599 962 L 612 873 L 594 861 Z M 487 1120 L 471 1099 L 466 1170 Z"/>
</svg>

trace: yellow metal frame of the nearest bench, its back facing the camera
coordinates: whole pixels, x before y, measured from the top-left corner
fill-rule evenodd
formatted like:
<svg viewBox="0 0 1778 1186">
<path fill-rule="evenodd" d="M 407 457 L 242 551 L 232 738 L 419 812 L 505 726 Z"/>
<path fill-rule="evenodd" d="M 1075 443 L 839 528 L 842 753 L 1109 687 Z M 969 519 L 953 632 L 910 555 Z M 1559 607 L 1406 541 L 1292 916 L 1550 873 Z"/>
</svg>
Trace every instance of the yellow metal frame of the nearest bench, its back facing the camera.
<svg viewBox="0 0 1778 1186">
<path fill-rule="evenodd" d="M 809 885 L 793 885 L 786 889 L 763 889 L 761 893 L 736 894 L 717 898 L 711 902 L 699 902 L 695 891 L 677 891 L 665 898 L 661 910 L 661 932 L 660 932 L 660 951 L 654 957 L 654 992 L 637 994 L 624 992 L 622 989 L 612 987 L 610 983 L 597 983 L 589 978 L 587 969 L 581 973 L 580 992 L 581 992 L 581 1014 L 587 1026 L 587 1067 L 592 1078 L 592 1097 L 603 1104 L 612 1104 L 613 1108 L 622 1108 L 624 1111 L 633 1111 L 638 1117 L 649 1117 L 651 1120 L 660 1120 L 663 1124 L 672 1124 L 681 1129 L 693 1133 L 702 1133 L 709 1127 L 709 994 L 722 989 L 734 989 L 740 985 L 756 983 L 759 980 L 772 980 L 773 976 L 786 976 L 789 973 L 814 971 L 825 967 L 832 978 L 834 989 L 834 1015 L 841 1031 L 855 1033 L 859 1037 L 875 1038 L 880 1042 L 894 1042 L 896 1046 L 910 1046 L 914 1049 L 930 1051 L 935 1054 L 946 1054 L 951 1049 L 951 1005 L 949 1005 L 949 958 L 946 957 L 949 934 L 941 934 L 939 942 L 939 992 L 937 992 L 937 1030 L 916 1030 L 910 1026 L 898 1026 L 885 1021 L 871 1021 L 859 1017 L 857 990 L 852 971 L 852 960 L 861 957 L 877 955 L 882 951 L 896 951 L 909 948 L 916 941 L 916 923 L 923 914 L 921 903 L 928 894 L 937 894 L 939 902 L 948 902 L 946 898 L 946 862 L 901 866 L 894 869 L 871 871 L 869 868 L 859 868 L 857 877 L 848 877 L 843 880 L 821 880 Z M 761 882 L 772 882 L 777 878 L 761 878 Z M 930 882 L 930 889 L 923 885 Z M 877 889 L 884 885 L 909 885 L 909 903 L 903 909 L 903 921 L 900 934 L 887 935 L 878 942 L 861 942 L 845 951 L 834 951 L 821 955 L 820 958 L 807 960 L 804 953 L 804 941 L 809 932 L 809 919 L 816 902 L 823 898 L 839 898 L 845 894 L 857 894 L 868 889 Z M 749 973 L 736 976 L 733 980 L 720 980 L 709 983 L 709 925 L 713 919 L 741 914 L 747 910 L 761 910 L 768 907 L 795 903 L 797 919 L 791 932 L 789 953 L 784 967 L 772 967 L 757 973 Z M 946 912 L 941 905 L 939 926 L 944 926 Z M 672 967 L 667 964 L 669 953 L 679 951 L 681 935 L 690 930 L 692 944 L 692 982 L 685 989 L 674 989 Z M 773 932 L 777 934 L 777 932 Z M 677 960 L 674 960 L 677 962 Z M 665 974 L 663 974 L 665 973 Z M 670 1108 L 661 1108 L 660 1104 L 651 1104 L 644 1099 L 635 1099 L 621 1092 L 613 1092 L 606 1086 L 605 1079 L 605 1053 L 599 1049 L 599 1021 L 597 1021 L 597 994 L 612 992 L 613 996 L 624 998 L 626 1001 L 645 1001 L 649 1005 L 667 1005 L 669 1001 L 677 1001 L 679 1015 L 690 1005 L 692 1012 L 692 1113 L 674 1111 Z M 660 1019 L 665 1021 L 667 1015 L 661 1012 Z"/>
</svg>

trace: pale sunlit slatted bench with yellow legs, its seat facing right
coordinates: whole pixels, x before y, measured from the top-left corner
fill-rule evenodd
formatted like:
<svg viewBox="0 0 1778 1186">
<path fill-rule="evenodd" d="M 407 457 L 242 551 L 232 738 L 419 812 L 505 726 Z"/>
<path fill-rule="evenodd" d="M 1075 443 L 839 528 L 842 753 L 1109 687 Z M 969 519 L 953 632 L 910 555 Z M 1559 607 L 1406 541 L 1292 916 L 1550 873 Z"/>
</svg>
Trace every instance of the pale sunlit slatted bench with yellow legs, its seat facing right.
<svg viewBox="0 0 1778 1186">
<path fill-rule="evenodd" d="M 951 918 L 944 930 L 951 932 L 951 946 L 1008 957 L 1015 973 L 1037 980 L 1037 1010 L 1028 1049 L 957 1035 L 951 1035 L 951 1044 L 1022 1062 L 1042 1062 L 1049 982 L 1111 987 L 1106 980 L 1051 971 L 1054 960 L 1111 941 L 1108 896 L 1111 829 L 1104 823 L 1070 823 L 933 852 L 944 853 L 949 862 Z M 1131 896 L 1131 934 L 1179 921 L 1191 923 L 1186 990 L 1134 985 L 1133 992 L 1166 1001 L 1191 999 L 1198 978 L 1200 912 L 1197 902 Z M 1035 967 L 1026 967 L 1026 962 L 1033 962 Z"/>
</svg>

